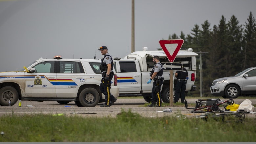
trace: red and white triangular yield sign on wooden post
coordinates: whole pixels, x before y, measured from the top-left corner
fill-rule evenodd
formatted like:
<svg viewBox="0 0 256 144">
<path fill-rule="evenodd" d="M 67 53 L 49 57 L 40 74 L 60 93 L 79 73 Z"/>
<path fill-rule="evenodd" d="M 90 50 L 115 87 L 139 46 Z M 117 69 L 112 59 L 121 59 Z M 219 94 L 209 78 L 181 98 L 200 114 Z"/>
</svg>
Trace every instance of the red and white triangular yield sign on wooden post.
<svg viewBox="0 0 256 144">
<path fill-rule="evenodd" d="M 174 62 L 178 52 L 183 45 L 183 39 L 172 39 L 172 40 L 160 40 L 159 44 L 162 47 L 164 53 L 171 63 Z"/>
</svg>

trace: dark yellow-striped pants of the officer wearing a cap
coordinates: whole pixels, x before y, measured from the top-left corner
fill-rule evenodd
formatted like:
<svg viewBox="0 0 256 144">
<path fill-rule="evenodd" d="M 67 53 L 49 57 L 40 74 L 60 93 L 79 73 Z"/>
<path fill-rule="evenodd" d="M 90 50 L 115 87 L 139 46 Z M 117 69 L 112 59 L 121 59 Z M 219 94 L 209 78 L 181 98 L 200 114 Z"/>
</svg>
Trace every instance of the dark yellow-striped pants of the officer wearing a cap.
<svg viewBox="0 0 256 144">
<path fill-rule="evenodd" d="M 113 78 L 113 75 L 110 75 L 110 80 L 108 83 L 108 86 L 103 86 L 102 81 L 100 82 L 100 91 L 105 95 L 105 104 L 109 105 L 112 100 L 115 99 L 115 97 L 110 93 L 110 86 L 111 86 L 111 80 Z"/>
</svg>

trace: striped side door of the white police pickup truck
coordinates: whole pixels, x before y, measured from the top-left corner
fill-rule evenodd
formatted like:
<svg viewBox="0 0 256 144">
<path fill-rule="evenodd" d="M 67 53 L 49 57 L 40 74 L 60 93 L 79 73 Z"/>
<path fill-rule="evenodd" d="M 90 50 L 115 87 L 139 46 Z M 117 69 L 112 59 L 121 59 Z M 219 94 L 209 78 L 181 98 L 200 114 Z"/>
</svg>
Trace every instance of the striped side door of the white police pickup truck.
<svg viewBox="0 0 256 144">
<path fill-rule="evenodd" d="M 139 65 L 136 65 L 134 61 L 117 61 L 117 64 L 117 84 L 119 93 L 140 93 L 141 73 Z"/>
</svg>

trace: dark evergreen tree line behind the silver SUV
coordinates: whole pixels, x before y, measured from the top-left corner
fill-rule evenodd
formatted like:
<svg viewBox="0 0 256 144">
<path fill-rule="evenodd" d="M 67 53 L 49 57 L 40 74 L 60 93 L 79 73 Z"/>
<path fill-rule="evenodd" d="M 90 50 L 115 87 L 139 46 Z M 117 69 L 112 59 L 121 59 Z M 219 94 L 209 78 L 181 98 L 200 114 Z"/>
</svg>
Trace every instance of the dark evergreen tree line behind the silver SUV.
<svg viewBox="0 0 256 144">
<path fill-rule="evenodd" d="M 208 20 L 199 25 L 195 24 L 187 36 L 175 33 L 168 39 L 183 39 L 182 48 L 192 48 L 194 52 L 202 51 L 203 97 L 212 96 L 210 87 L 213 80 L 221 77 L 234 76 L 237 73 L 256 66 L 256 22 L 250 12 L 245 25 L 239 24 L 232 15 L 229 21 L 222 15 L 219 24 L 210 29 Z M 243 27 L 244 26 L 244 27 Z M 200 96 L 200 70 L 197 58 L 196 82 L 197 91 L 188 93 L 189 96 Z"/>
</svg>

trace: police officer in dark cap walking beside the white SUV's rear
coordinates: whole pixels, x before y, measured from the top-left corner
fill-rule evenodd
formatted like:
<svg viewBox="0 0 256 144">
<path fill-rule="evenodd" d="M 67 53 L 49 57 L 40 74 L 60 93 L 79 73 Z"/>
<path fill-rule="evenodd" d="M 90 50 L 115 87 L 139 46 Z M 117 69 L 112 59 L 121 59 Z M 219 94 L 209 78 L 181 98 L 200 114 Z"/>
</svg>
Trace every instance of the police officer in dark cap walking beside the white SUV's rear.
<svg viewBox="0 0 256 144">
<path fill-rule="evenodd" d="M 105 103 L 100 107 L 110 107 L 117 99 L 110 93 L 111 80 L 114 76 L 113 59 L 108 53 L 108 48 L 102 46 L 99 48 L 104 57 L 101 59 L 100 71 L 102 79 L 100 82 L 100 91 L 105 95 Z"/>
</svg>

